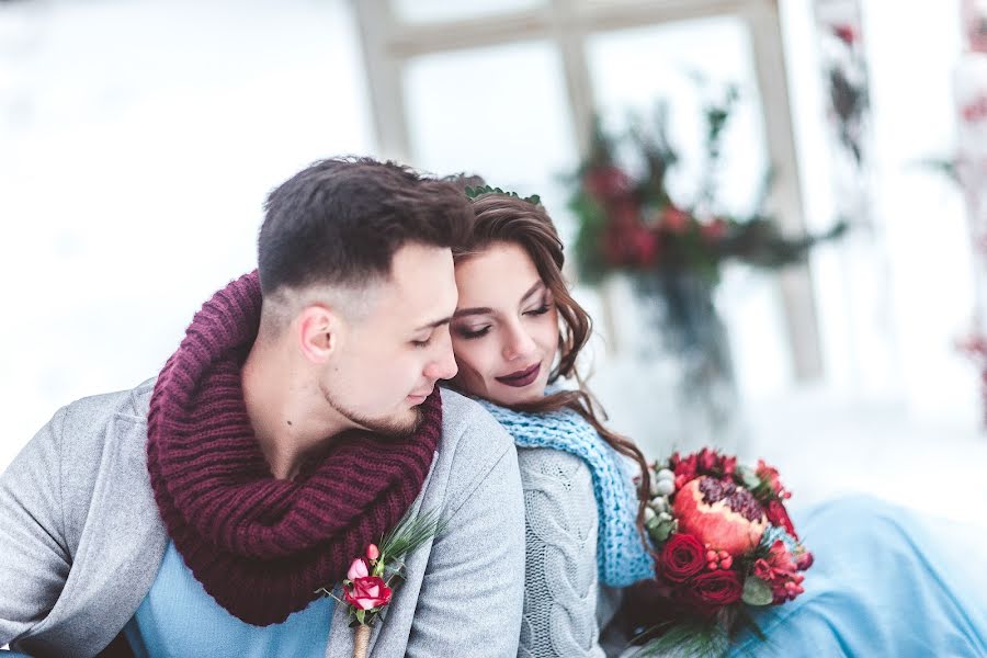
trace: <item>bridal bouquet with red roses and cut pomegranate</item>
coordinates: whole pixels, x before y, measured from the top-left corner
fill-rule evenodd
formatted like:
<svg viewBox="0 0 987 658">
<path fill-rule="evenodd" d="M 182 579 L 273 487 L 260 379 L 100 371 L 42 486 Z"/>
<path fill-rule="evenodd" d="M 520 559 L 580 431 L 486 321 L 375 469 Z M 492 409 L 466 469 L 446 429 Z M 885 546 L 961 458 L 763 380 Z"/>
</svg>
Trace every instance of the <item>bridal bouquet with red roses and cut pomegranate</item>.
<svg viewBox="0 0 987 658">
<path fill-rule="evenodd" d="M 642 620 L 636 655 L 723 654 L 745 626 L 760 636 L 751 609 L 794 600 L 813 564 L 778 470 L 703 449 L 655 463 L 651 483 L 646 527 L 655 543 L 648 586 L 656 604 L 642 612 L 662 619 Z"/>
</svg>

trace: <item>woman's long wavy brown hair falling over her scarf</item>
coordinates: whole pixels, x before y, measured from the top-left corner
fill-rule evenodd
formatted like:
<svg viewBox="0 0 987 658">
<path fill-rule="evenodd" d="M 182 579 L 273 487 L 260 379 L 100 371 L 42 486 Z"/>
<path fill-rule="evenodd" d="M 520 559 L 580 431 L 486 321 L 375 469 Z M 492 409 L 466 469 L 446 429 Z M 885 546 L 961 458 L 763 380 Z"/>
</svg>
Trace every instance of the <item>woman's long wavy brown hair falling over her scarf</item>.
<svg viewBox="0 0 987 658">
<path fill-rule="evenodd" d="M 548 383 L 559 377 L 574 377 L 577 390 L 560 390 L 545 396 L 536 402 L 512 405 L 519 411 L 547 412 L 563 407 L 572 409 L 589 422 L 615 451 L 634 460 L 640 468 L 637 487 L 637 529 L 644 538 L 645 508 L 650 492 L 650 478 L 644 454 L 633 441 L 608 430 L 600 420 L 606 415 L 589 392 L 576 366 L 580 350 L 586 347 L 592 333 L 593 324 L 589 314 L 569 294 L 569 286 L 563 277 L 563 243 L 548 213 L 541 205 L 500 193 L 488 193 L 473 200 L 475 222 L 469 238 L 453 248 L 456 262 L 483 253 L 497 242 L 518 245 L 534 262 L 542 281 L 552 291 L 560 318 L 558 334 L 558 365 L 548 375 Z M 645 542 L 647 546 L 647 543 Z"/>
</svg>

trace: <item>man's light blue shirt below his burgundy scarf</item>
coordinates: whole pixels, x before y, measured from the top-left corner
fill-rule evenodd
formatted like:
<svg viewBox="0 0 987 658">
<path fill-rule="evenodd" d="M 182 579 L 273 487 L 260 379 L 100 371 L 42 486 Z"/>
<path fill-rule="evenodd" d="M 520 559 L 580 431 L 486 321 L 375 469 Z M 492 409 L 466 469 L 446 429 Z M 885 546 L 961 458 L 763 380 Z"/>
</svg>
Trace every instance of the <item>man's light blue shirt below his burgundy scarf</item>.
<svg viewBox="0 0 987 658">
<path fill-rule="evenodd" d="M 253 626 L 206 593 L 169 542 L 147 598 L 124 634 L 137 658 L 322 658 L 336 601 L 322 597 L 281 624 Z"/>
</svg>

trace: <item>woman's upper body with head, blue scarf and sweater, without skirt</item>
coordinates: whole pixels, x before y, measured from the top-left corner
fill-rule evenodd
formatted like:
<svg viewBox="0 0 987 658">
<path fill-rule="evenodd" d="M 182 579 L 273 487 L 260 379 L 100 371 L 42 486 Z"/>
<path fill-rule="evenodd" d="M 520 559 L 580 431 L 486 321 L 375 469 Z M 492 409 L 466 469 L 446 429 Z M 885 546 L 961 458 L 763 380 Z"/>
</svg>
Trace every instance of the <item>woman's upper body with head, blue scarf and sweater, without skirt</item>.
<svg viewBox="0 0 987 658">
<path fill-rule="evenodd" d="M 643 540 L 645 460 L 600 423 L 585 389 L 544 395 L 557 378 L 579 381 L 576 358 L 591 331 L 561 277 L 561 243 L 544 209 L 502 194 L 474 209 L 473 240 L 454 254 L 454 385 L 494 402 L 488 409 L 519 446 L 527 543 L 521 655 L 602 655 L 599 629 L 616 604 L 606 588 L 654 570 Z M 637 463 L 636 491 L 616 453 Z"/>
</svg>

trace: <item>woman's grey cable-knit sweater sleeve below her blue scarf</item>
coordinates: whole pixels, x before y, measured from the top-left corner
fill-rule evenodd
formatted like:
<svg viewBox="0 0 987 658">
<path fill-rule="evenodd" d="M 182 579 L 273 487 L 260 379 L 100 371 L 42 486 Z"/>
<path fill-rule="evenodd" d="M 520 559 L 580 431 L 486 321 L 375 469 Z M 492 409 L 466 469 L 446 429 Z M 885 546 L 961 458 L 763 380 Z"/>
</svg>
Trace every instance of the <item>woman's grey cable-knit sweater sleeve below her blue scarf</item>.
<svg viewBox="0 0 987 658">
<path fill-rule="evenodd" d="M 519 449 L 525 544 L 522 657 L 603 656 L 597 622 L 598 511 L 586 463 Z"/>
</svg>

